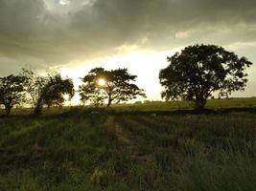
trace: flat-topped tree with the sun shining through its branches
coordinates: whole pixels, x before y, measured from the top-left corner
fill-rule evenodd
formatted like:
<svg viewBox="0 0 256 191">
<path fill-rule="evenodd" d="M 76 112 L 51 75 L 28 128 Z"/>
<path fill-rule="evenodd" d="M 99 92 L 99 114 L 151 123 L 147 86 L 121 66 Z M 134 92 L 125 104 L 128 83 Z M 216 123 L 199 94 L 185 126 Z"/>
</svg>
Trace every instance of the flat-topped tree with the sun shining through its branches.
<svg viewBox="0 0 256 191">
<path fill-rule="evenodd" d="M 110 107 L 113 102 L 128 101 L 137 96 L 145 97 L 145 91 L 132 83 L 136 77 L 128 74 L 128 69 L 106 71 L 103 68 L 95 68 L 81 78 L 81 101 L 93 102 L 98 106 L 106 100 L 106 107 Z"/>
</svg>

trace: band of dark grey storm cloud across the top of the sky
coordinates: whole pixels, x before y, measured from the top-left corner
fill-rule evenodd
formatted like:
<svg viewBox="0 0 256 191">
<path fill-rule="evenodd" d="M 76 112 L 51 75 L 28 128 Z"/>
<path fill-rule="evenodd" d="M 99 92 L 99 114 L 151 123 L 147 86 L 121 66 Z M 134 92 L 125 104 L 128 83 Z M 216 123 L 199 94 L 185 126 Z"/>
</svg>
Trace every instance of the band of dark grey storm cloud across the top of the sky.
<svg viewBox="0 0 256 191">
<path fill-rule="evenodd" d="M 254 0 L 58 2 L 0 0 L 0 58 L 33 57 L 50 66 L 115 53 L 123 45 L 157 51 L 256 41 Z"/>
</svg>

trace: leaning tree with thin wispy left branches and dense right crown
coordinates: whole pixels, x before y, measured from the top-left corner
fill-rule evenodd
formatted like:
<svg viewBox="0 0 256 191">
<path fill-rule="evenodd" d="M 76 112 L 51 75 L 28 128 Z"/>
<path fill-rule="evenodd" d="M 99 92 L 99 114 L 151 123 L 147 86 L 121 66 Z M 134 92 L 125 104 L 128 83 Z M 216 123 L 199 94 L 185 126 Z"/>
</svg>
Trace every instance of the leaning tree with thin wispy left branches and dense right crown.
<svg viewBox="0 0 256 191">
<path fill-rule="evenodd" d="M 74 84 L 70 78 L 62 78 L 56 71 L 48 71 L 46 75 L 23 69 L 22 75 L 26 79 L 25 89 L 27 99 L 35 106 L 35 115 L 40 115 L 44 105 L 60 106 L 67 95 L 71 99 L 74 94 Z"/>
</svg>

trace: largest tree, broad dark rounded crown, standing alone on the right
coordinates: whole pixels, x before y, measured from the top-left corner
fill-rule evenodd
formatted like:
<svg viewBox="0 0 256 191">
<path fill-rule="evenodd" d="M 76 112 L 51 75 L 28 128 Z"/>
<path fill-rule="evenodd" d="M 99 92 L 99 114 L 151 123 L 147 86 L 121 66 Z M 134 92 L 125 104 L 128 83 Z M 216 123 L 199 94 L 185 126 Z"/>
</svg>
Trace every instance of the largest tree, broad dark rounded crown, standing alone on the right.
<svg viewBox="0 0 256 191">
<path fill-rule="evenodd" d="M 244 90 L 245 69 L 252 64 L 215 45 L 189 46 L 167 59 L 170 65 L 159 74 L 162 97 L 192 100 L 196 110 L 202 110 L 213 93 L 227 96 Z"/>
</svg>

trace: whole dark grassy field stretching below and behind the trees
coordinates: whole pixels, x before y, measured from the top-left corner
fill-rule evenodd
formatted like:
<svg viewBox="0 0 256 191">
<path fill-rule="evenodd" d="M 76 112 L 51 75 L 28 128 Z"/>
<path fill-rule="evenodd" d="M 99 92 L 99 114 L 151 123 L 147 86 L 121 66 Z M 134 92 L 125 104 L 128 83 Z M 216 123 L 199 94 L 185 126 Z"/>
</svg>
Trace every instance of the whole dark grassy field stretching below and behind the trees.
<svg viewBox="0 0 256 191">
<path fill-rule="evenodd" d="M 0 118 L 0 190 L 254 191 L 255 107 L 247 98 L 210 100 L 221 112 L 209 114 L 163 113 L 175 103 L 15 110 Z"/>
</svg>

